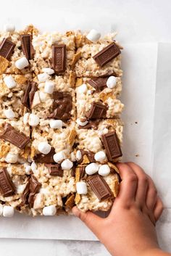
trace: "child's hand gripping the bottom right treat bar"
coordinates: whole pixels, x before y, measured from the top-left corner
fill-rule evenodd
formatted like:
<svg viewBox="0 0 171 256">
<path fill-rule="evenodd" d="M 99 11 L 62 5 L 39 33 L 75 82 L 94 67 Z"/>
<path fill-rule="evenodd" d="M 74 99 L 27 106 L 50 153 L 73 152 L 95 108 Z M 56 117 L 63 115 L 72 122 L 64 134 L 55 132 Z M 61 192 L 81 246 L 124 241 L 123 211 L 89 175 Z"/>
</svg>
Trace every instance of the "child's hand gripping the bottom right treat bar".
<svg viewBox="0 0 171 256">
<path fill-rule="evenodd" d="M 139 256 L 159 247 L 155 223 L 163 205 L 153 181 L 133 162 L 118 163 L 120 193 L 107 218 L 93 212 L 72 212 L 93 231 L 114 256 Z M 154 253 L 155 254 L 155 253 Z"/>
</svg>

